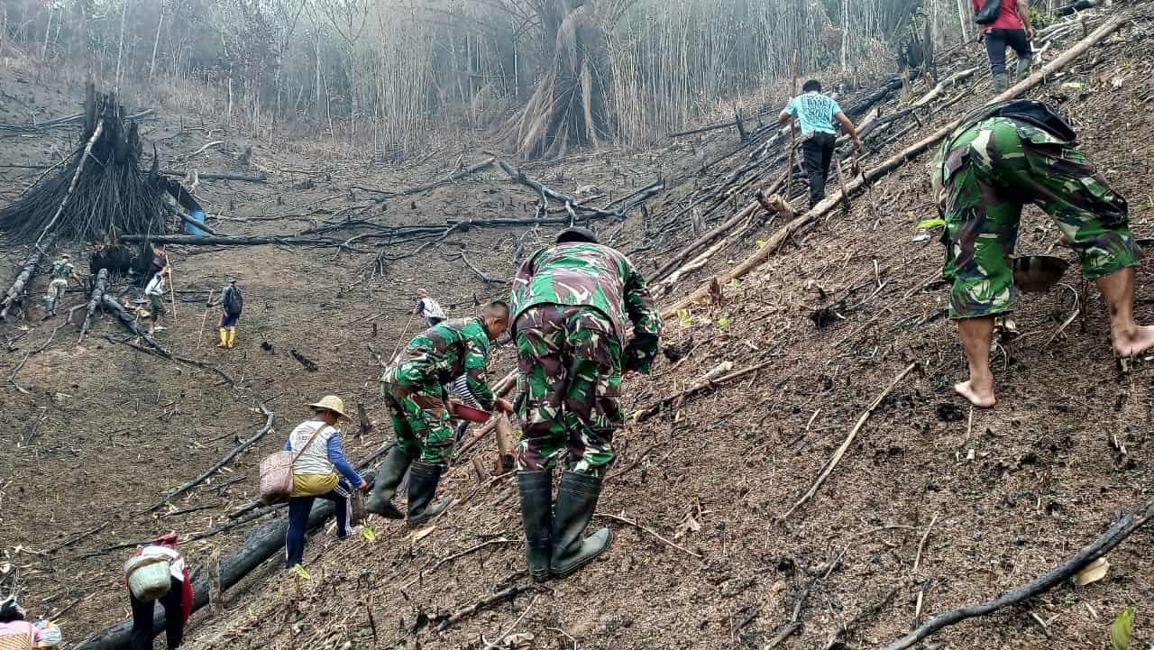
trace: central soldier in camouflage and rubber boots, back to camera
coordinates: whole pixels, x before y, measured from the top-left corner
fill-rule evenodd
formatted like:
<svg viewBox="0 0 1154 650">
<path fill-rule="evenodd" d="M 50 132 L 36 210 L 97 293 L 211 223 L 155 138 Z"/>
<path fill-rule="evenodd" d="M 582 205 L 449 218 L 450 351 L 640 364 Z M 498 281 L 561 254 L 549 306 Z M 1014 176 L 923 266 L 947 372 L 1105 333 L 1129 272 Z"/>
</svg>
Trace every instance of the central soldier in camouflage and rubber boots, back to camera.
<svg viewBox="0 0 1154 650">
<path fill-rule="evenodd" d="M 630 322 L 634 338 L 625 345 Z M 613 462 L 622 372 L 650 372 L 661 315 L 624 255 L 599 245 L 589 230 L 569 229 L 517 271 L 512 323 L 525 555 L 530 575 L 544 581 L 571 574 L 613 540 L 608 529 L 585 539 L 582 532 Z M 554 509 L 552 472 L 562 460 Z"/>
</svg>

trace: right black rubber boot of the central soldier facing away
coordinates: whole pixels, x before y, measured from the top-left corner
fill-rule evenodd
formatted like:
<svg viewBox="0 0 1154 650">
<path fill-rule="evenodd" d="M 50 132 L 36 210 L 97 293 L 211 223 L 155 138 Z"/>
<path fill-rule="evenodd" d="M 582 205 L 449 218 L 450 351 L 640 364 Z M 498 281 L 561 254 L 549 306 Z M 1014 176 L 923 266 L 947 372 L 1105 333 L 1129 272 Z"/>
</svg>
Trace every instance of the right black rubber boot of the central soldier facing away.
<svg viewBox="0 0 1154 650">
<path fill-rule="evenodd" d="M 549 570 L 557 577 L 565 577 L 590 563 L 613 543 L 613 532 L 607 528 L 582 539 L 597 510 L 601 480 L 598 476 L 561 475 L 557 502 L 553 509 L 553 554 L 549 558 Z"/>
</svg>

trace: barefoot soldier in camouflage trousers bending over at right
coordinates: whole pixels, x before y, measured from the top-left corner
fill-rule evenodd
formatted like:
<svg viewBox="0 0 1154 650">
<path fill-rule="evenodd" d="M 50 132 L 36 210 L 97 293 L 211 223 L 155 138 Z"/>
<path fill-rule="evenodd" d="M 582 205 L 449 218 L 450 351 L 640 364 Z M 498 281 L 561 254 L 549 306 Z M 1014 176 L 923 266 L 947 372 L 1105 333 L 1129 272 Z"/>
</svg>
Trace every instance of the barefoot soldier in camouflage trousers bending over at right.
<svg viewBox="0 0 1154 650">
<path fill-rule="evenodd" d="M 1051 109 L 1052 110 L 1052 109 Z M 950 317 L 957 319 L 969 380 L 954 389 L 975 406 L 995 404 L 989 352 L 997 314 L 1010 311 L 1016 289 L 1009 255 L 1022 207 L 1050 215 L 1094 279 L 1110 314 L 1115 351 L 1154 348 L 1154 328 L 1133 317 L 1134 267 L 1141 249 L 1127 222 L 1126 201 L 1094 165 L 1064 140 L 1027 121 L 977 114 L 962 120 L 932 164 L 945 217 L 943 276 L 952 284 Z"/>
</svg>

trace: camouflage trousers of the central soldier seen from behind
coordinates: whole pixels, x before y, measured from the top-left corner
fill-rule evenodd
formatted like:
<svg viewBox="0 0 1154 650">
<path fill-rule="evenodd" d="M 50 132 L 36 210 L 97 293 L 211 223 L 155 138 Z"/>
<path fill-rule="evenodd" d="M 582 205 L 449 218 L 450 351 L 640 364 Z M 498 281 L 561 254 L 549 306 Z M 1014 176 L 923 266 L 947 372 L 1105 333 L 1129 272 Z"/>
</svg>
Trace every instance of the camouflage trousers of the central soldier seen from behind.
<svg viewBox="0 0 1154 650">
<path fill-rule="evenodd" d="M 517 469 L 552 470 L 564 458 L 570 471 L 604 476 L 624 419 L 613 323 L 593 307 L 538 305 L 517 317 L 516 331 Z"/>
</svg>

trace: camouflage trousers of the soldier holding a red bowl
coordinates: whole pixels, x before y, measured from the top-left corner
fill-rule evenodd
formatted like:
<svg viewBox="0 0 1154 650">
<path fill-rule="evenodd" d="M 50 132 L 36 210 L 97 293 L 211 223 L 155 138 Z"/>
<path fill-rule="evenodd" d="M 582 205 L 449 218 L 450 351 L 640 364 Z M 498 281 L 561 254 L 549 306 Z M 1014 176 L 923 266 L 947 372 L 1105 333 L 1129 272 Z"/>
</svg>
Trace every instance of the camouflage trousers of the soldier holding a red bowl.
<svg viewBox="0 0 1154 650">
<path fill-rule="evenodd" d="M 410 387 L 381 382 L 397 444 L 410 458 L 443 465 L 452 453 L 454 434 L 444 408 L 444 388 L 436 382 Z"/>
</svg>

